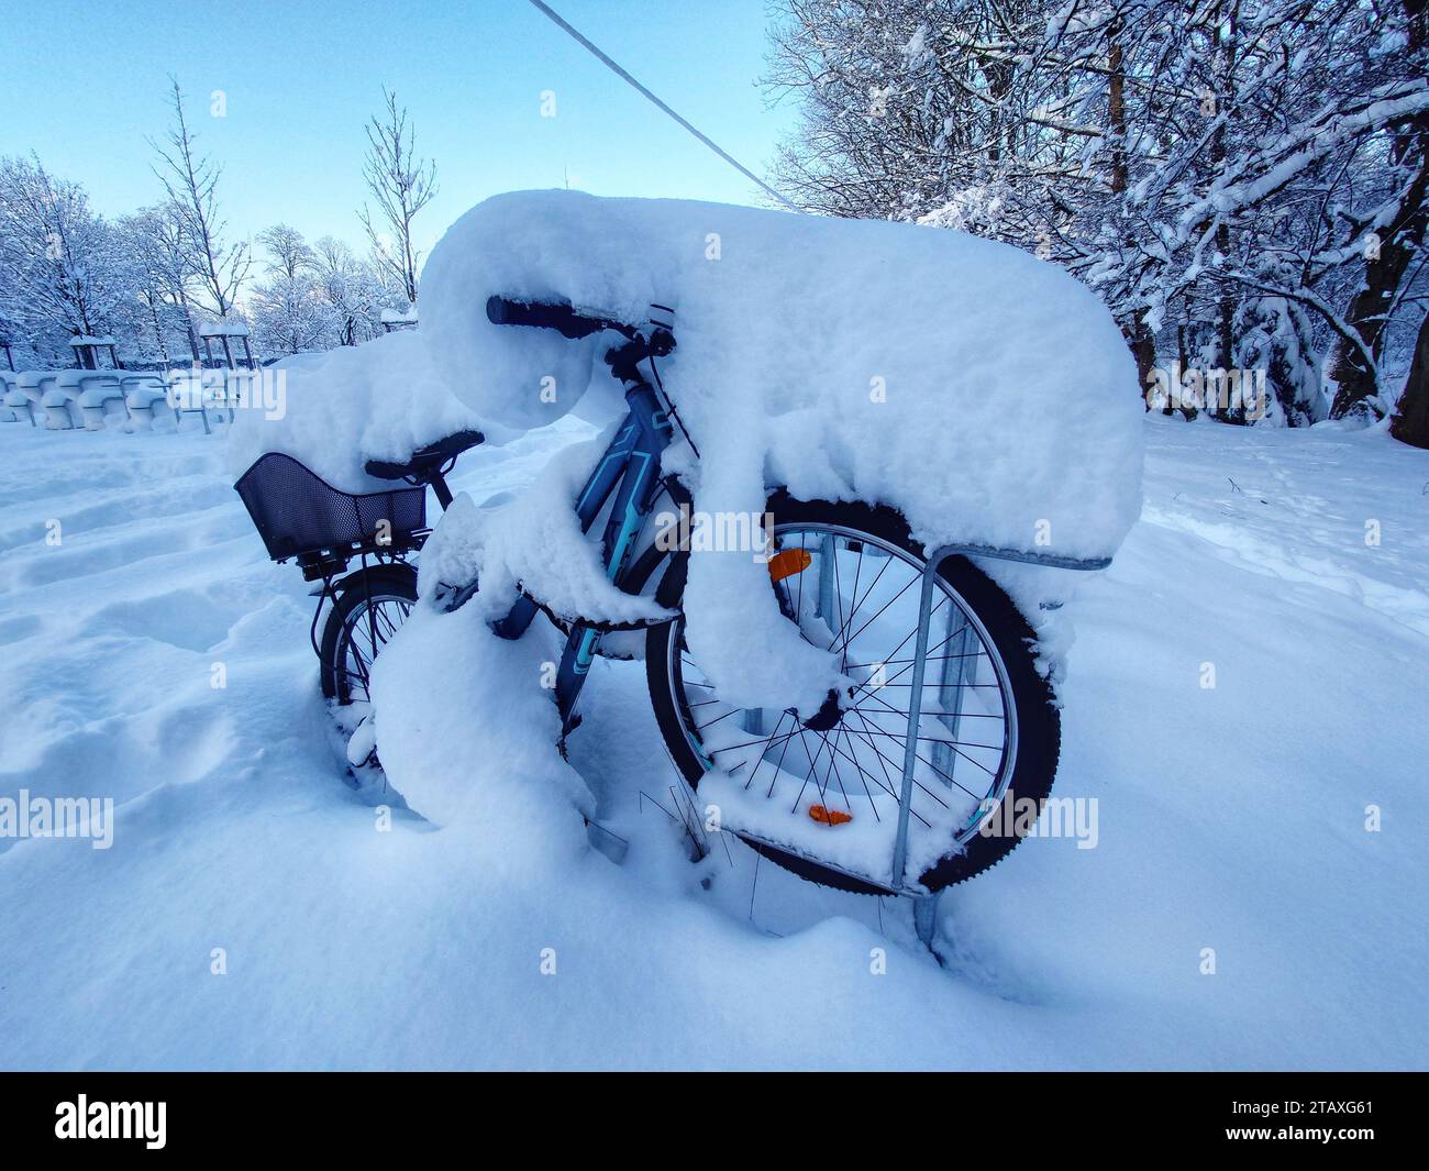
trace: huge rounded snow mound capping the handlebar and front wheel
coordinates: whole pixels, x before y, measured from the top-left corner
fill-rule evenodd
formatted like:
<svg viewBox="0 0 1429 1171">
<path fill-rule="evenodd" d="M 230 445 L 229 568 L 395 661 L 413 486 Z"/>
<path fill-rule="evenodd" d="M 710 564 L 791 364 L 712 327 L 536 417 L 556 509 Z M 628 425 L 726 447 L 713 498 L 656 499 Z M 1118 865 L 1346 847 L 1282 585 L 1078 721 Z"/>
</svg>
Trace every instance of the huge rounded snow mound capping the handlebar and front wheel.
<svg viewBox="0 0 1429 1171">
<path fill-rule="evenodd" d="M 420 336 L 454 395 L 524 429 L 574 407 L 596 370 L 609 383 L 602 340 L 494 326 L 493 293 L 630 323 L 674 309 L 662 373 L 707 510 L 760 509 L 785 485 L 893 505 L 926 542 L 1070 556 L 1110 555 L 1139 512 L 1126 345 L 1087 289 L 1006 244 L 686 200 L 497 196 L 433 252 Z"/>
</svg>

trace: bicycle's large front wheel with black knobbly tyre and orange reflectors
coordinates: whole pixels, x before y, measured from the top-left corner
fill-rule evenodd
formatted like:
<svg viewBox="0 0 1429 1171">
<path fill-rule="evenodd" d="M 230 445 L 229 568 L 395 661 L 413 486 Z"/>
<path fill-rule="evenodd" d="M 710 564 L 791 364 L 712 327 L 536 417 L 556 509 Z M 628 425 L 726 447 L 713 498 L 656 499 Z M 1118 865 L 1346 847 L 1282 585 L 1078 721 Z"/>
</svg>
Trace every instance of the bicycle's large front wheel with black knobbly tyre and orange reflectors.
<svg viewBox="0 0 1429 1171">
<path fill-rule="evenodd" d="M 945 560 L 910 726 L 925 550 L 890 509 L 780 495 L 770 512 L 783 555 L 772 589 L 803 638 L 837 658 L 845 693 L 813 716 L 739 708 L 690 653 L 683 616 L 652 628 L 656 721 L 706 825 L 862 894 L 937 891 L 996 865 L 1046 801 L 1060 745 L 1026 619 L 966 558 Z M 662 578 L 660 605 L 679 608 L 687 556 Z"/>
</svg>

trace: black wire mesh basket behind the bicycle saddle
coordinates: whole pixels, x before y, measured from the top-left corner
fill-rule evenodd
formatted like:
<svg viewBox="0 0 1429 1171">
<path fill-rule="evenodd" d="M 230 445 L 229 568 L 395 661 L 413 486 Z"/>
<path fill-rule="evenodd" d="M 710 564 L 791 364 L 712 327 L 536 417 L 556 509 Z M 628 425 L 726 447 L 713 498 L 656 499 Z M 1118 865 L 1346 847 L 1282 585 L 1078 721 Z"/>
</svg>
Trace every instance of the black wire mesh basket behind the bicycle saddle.
<svg viewBox="0 0 1429 1171">
<path fill-rule="evenodd" d="M 319 549 L 374 545 L 400 550 L 426 529 L 426 488 L 394 488 L 354 496 L 282 452 L 257 459 L 233 485 L 273 560 Z M 386 520 L 390 526 L 379 533 Z"/>
</svg>

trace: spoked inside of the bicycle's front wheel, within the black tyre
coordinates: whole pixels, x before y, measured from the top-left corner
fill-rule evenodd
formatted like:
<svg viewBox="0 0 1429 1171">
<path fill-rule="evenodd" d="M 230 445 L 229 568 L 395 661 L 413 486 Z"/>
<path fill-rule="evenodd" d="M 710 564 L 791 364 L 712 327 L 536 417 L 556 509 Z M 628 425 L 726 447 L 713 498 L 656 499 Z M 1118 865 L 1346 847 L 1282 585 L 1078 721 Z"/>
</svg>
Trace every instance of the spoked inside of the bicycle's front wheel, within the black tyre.
<svg viewBox="0 0 1429 1171">
<path fill-rule="evenodd" d="M 676 685 L 674 695 L 679 696 L 676 713 L 683 723 L 683 735 L 696 749 L 706 738 L 712 739 L 703 748 L 709 754 L 702 758 L 704 768 L 716 762 L 714 768 L 722 775 L 743 785 L 749 794 L 746 802 L 753 802 L 739 806 L 739 828 L 733 832 L 762 839 L 760 849 L 773 848 L 777 854 L 802 858 L 835 874 L 867 872 L 870 881 L 886 882 L 887 861 L 877 864 L 872 859 L 885 848 L 882 844 L 892 844 L 887 835 L 893 834 L 897 819 L 885 814 L 889 808 L 899 808 L 905 786 L 903 758 L 912 748 L 909 756 L 916 772 L 906 778 L 910 782 L 906 815 L 919 839 L 909 848 L 917 851 L 913 856 L 925 859 L 946 856 L 976 832 L 976 818 L 965 816 L 969 804 L 980 808 L 989 796 L 1000 799 L 1015 748 L 1016 721 L 1007 672 L 986 628 L 953 586 L 956 576 L 939 573 L 935 578 L 937 598 L 929 621 L 937 621 L 940 625 L 935 629 L 946 633 L 935 633 L 923 656 L 925 663 L 937 663 L 939 668 L 923 681 L 923 688 L 932 688 L 933 693 L 923 692 L 929 702 L 919 705 L 920 726 L 913 726 L 909 721 L 913 683 L 907 675 L 916 666 L 910 649 L 919 633 L 915 588 L 925 572 L 919 555 L 882 538 L 875 539 L 862 529 L 823 522 L 776 528 L 775 548 L 813 555 L 807 569 L 790 575 L 799 578 L 797 583 L 786 578 L 773 589 L 782 612 L 805 631 L 810 643 L 837 661 L 839 671 L 852 678 L 847 679 L 847 696 L 840 696 L 836 719 L 810 716 L 809 722 L 816 725 L 810 728 L 797 712 L 785 709 L 769 731 L 767 721 L 773 712 L 763 709 L 759 713 L 720 701 L 719 686 L 700 671 L 683 642 L 683 621 L 672 628 L 666 656 L 670 681 Z M 865 560 L 872 558 L 883 558 L 883 563 L 869 565 L 865 573 Z M 809 613 L 805 612 L 803 596 L 806 576 L 815 579 L 809 588 L 817 586 L 819 593 L 817 602 L 809 602 Z M 809 625 L 815 618 L 819 619 L 817 628 Z M 899 633 L 900 629 L 903 633 Z M 989 692 L 997 693 L 997 702 Z M 702 709 L 713 706 L 725 709 L 702 719 Z M 753 733 L 730 735 L 737 726 L 730 716 L 743 719 L 740 731 L 753 729 Z M 720 723 L 726 725 L 723 733 L 717 731 Z M 973 732 L 970 739 L 967 732 Z M 816 738 L 817 743 L 812 743 L 810 738 Z M 720 739 L 732 743 L 722 745 Z M 672 752 L 674 745 L 672 741 Z M 795 765 L 796 755 L 805 758 L 802 766 Z M 952 772 L 952 762 L 957 758 L 975 772 L 959 768 L 963 779 L 957 779 Z M 762 779 L 766 764 L 772 776 Z M 979 792 L 983 785 L 979 774 L 987 782 L 986 792 Z M 810 789 L 815 792 L 810 794 Z M 859 789 L 863 791 L 867 812 L 863 802 L 855 806 Z M 760 809 L 766 806 L 760 795 L 767 802 L 769 821 L 762 821 L 766 815 Z M 780 826 L 780 819 L 807 816 L 806 802 L 813 801 L 830 812 L 842 809 L 849 816 L 872 818 L 863 826 L 865 838 L 845 831 L 842 838 L 835 834 L 825 846 L 819 844 L 825 841 L 822 831 L 810 838 L 807 829 Z M 837 805 L 840 801 L 842 806 Z M 822 815 L 819 819 L 827 821 L 830 832 L 842 825 L 842 821 Z M 875 829 L 875 825 L 879 828 Z M 929 839 L 927 834 L 935 838 Z M 865 839 L 867 846 L 860 845 Z M 840 842 L 836 852 L 835 842 Z M 930 846 L 942 854 L 930 852 Z M 892 845 L 887 848 L 892 849 Z M 849 871 L 849 866 L 853 869 Z M 872 869 L 865 869 L 869 866 Z"/>
</svg>

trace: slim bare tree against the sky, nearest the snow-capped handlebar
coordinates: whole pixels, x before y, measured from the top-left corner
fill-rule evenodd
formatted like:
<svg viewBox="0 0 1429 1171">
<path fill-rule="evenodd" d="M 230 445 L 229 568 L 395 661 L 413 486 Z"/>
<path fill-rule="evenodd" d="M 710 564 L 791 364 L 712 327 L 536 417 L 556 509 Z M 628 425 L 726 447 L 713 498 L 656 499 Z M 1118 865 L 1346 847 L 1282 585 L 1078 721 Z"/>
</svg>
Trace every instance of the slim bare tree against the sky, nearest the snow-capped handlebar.
<svg viewBox="0 0 1429 1171">
<path fill-rule="evenodd" d="M 383 114 L 373 114 L 367 123 L 367 157 L 363 179 L 377 204 L 380 217 L 363 204 L 359 217 L 372 242 L 373 256 L 403 286 L 407 300 L 417 300 L 417 267 L 422 255 L 412 243 L 412 220 L 437 193 L 437 167 L 432 159 L 416 154 L 416 133 L 407 126 L 406 107 L 397 106 L 397 94 L 383 89 Z M 386 223 L 390 232 L 377 224 Z"/>
</svg>

